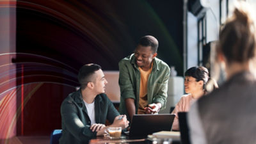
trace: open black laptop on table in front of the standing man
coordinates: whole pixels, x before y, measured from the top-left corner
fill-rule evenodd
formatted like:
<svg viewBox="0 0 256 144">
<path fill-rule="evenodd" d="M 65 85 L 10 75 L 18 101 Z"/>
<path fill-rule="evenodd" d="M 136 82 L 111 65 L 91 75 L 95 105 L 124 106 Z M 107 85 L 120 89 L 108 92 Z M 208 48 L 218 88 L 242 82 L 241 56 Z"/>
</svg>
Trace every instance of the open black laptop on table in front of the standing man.
<svg viewBox="0 0 256 144">
<path fill-rule="evenodd" d="M 129 137 L 147 137 L 159 131 L 171 131 L 175 115 L 133 115 Z"/>
</svg>

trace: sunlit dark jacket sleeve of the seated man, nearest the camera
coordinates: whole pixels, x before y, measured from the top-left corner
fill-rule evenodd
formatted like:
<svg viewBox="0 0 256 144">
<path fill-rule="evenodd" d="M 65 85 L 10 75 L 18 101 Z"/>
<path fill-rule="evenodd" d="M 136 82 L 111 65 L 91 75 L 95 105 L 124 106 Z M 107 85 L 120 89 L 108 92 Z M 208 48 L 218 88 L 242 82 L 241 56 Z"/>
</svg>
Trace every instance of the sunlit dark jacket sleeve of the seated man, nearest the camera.
<svg viewBox="0 0 256 144">
<path fill-rule="evenodd" d="M 97 135 L 97 132 L 90 130 L 90 125 L 84 125 L 77 115 L 77 108 L 74 103 L 64 101 L 61 105 L 61 117 L 62 122 L 66 125 L 68 131 L 80 141 L 88 141 L 93 136 Z"/>
</svg>

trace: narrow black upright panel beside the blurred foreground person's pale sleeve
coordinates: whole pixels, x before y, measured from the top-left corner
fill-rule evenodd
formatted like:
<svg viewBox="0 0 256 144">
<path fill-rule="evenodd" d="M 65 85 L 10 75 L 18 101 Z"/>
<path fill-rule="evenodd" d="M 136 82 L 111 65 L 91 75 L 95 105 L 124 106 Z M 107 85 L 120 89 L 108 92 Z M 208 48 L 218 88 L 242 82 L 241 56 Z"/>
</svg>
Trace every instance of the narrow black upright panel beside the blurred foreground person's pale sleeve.
<svg viewBox="0 0 256 144">
<path fill-rule="evenodd" d="M 187 112 L 179 112 L 180 140 L 182 144 L 190 144 Z"/>
</svg>

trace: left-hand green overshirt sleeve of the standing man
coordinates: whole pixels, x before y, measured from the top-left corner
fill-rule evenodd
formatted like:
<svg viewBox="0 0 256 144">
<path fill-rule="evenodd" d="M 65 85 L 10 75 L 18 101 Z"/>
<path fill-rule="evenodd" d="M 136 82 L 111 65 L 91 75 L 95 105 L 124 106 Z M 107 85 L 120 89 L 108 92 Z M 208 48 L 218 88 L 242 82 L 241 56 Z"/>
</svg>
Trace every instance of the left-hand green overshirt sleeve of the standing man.
<svg viewBox="0 0 256 144">
<path fill-rule="evenodd" d="M 133 86 L 131 83 L 131 77 L 129 76 L 129 72 L 127 68 L 128 66 L 125 65 L 124 61 L 120 61 L 118 65 L 119 65 L 119 82 L 118 83 L 120 86 L 121 97 L 124 99 L 127 99 L 127 98 L 136 99 Z"/>
</svg>

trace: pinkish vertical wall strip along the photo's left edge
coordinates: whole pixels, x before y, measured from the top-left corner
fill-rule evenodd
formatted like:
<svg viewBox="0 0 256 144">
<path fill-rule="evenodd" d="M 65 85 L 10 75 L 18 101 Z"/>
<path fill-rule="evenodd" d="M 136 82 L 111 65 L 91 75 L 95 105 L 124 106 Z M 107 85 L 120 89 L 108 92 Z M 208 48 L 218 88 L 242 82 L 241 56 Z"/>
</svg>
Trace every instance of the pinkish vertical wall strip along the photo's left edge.
<svg viewBox="0 0 256 144">
<path fill-rule="evenodd" d="M 0 142 L 16 135 L 15 1 L 0 2 Z"/>
</svg>

